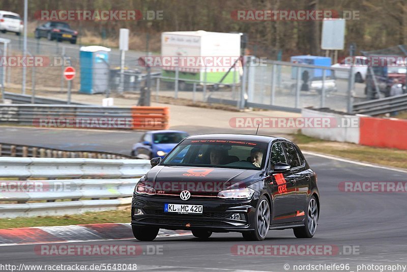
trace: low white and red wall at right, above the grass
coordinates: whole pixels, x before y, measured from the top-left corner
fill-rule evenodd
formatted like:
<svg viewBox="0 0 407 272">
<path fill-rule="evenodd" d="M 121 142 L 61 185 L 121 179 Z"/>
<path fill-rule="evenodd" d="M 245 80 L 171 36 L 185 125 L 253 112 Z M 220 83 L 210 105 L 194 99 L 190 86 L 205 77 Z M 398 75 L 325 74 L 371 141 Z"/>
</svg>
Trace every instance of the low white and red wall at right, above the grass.
<svg viewBox="0 0 407 272">
<path fill-rule="evenodd" d="M 340 115 L 304 108 L 303 117 L 327 117 L 357 119 L 357 127 L 302 128 L 303 134 L 337 142 L 355 143 L 373 147 L 407 150 L 407 120 L 376 118 L 364 115 Z"/>
</svg>

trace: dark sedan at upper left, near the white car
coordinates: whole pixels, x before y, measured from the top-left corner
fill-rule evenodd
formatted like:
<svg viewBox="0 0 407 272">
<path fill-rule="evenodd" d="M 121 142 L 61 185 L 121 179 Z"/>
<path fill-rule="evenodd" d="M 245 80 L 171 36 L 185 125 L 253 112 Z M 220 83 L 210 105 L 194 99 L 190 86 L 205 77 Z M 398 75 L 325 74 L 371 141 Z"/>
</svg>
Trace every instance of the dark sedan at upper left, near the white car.
<svg viewBox="0 0 407 272">
<path fill-rule="evenodd" d="M 68 40 L 72 44 L 76 43 L 76 38 L 78 37 L 78 32 L 71 29 L 69 24 L 65 22 L 47 22 L 37 26 L 34 34 L 37 39 L 45 37 L 49 41 L 55 39 L 57 41 Z"/>
</svg>

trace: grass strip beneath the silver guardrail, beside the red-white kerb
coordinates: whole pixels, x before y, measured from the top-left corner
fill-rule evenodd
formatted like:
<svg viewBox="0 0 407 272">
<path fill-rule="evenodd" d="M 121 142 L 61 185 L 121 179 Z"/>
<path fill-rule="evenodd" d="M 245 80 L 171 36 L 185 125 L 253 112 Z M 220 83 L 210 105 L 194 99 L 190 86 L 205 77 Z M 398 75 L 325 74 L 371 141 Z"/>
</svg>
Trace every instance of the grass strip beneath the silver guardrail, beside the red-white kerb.
<svg viewBox="0 0 407 272">
<path fill-rule="evenodd" d="M 128 208 L 124 210 L 85 212 L 63 216 L 1 218 L 0 229 L 101 223 L 130 223 L 130 213 L 130 208 Z"/>
</svg>

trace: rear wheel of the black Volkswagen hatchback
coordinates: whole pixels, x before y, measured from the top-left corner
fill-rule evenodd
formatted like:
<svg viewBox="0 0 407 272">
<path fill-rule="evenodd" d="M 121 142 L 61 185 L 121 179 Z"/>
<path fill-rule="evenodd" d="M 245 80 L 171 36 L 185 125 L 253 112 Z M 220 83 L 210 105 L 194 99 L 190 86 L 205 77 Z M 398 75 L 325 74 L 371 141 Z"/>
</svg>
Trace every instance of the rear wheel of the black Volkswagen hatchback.
<svg viewBox="0 0 407 272">
<path fill-rule="evenodd" d="M 312 196 L 307 205 L 304 227 L 294 228 L 294 235 L 297 238 L 312 238 L 315 234 L 316 227 L 318 226 L 318 218 L 318 203 L 316 198 Z"/>
</svg>

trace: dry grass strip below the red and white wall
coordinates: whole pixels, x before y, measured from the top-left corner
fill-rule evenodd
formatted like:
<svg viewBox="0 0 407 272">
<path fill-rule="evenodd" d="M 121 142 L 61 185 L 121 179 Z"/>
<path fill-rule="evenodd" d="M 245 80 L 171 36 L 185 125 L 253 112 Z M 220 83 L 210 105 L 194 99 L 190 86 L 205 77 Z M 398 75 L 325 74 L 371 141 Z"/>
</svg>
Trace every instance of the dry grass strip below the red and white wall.
<svg viewBox="0 0 407 272">
<path fill-rule="evenodd" d="M 290 138 L 304 151 L 314 151 L 372 164 L 407 169 L 407 151 L 405 150 L 324 141 L 303 134 L 294 134 Z"/>
</svg>

